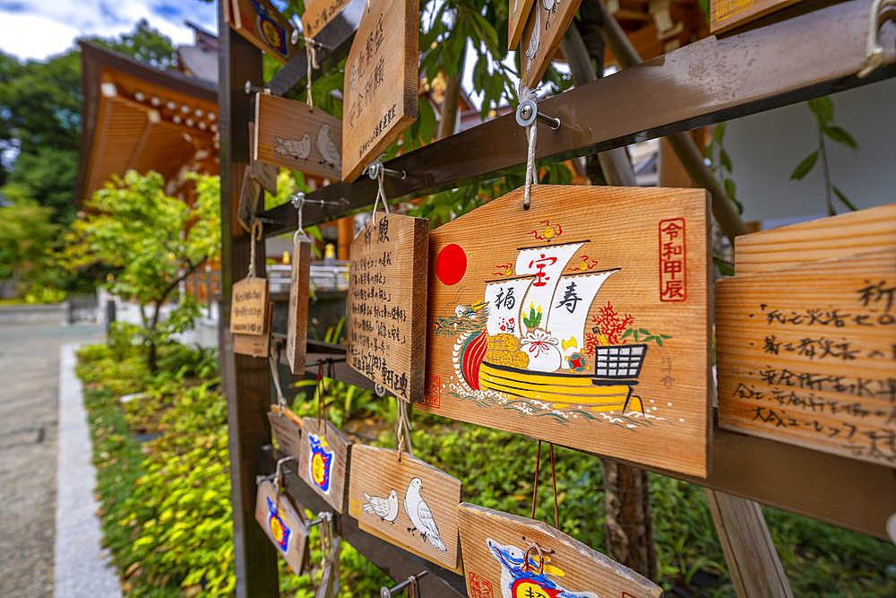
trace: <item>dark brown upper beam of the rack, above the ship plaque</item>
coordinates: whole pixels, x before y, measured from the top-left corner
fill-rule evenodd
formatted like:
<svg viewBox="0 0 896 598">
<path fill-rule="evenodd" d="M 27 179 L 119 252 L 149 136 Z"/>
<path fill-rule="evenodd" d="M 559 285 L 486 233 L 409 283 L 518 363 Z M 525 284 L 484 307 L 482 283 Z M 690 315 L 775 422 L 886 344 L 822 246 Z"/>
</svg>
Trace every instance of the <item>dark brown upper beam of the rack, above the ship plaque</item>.
<svg viewBox="0 0 896 598">
<path fill-rule="evenodd" d="M 349 6 L 358 2 L 363 0 L 353 0 Z M 865 61 L 870 4 L 871 0 L 851 0 L 722 39 L 701 39 L 544 100 L 539 108 L 559 117 L 563 126 L 558 131 L 539 126 L 538 164 L 603 152 L 890 78 L 896 75 L 896 30 L 889 26 L 882 30 L 885 64 L 865 79 L 856 76 Z M 510 114 L 390 160 L 388 168 L 416 176 L 386 178 L 385 192 L 391 200 L 437 193 L 520 171 L 525 160 L 526 136 Z M 307 196 L 349 202 L 346 207 L 306 204 L 304 221 L 311 226 L 374 204 L 376 184 L 358 178 L 352 184 L 324 186 Z M 265 227 L 267 236 L 297 228 L 291 204 L 263 215 L 273 221 Z"/>
</svg>

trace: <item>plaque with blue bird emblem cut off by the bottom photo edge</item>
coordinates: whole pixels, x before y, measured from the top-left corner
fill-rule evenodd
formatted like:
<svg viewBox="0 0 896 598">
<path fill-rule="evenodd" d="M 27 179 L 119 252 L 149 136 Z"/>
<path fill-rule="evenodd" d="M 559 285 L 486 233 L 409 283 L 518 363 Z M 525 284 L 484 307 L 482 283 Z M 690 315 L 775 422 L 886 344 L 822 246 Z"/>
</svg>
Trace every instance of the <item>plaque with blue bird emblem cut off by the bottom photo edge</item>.
<svg viewBox="0 0 896 598">
<path fill-rule="evenodd" d="M 659 598 L 663 594 L 646 577 L 540 521 L 466 502 L 457 512 L 471 598 Z M 526 550 L 533 542 L 554 552 L 544 555 L 542 562 L 533 550 L 527 559 Z"/>
</svg>

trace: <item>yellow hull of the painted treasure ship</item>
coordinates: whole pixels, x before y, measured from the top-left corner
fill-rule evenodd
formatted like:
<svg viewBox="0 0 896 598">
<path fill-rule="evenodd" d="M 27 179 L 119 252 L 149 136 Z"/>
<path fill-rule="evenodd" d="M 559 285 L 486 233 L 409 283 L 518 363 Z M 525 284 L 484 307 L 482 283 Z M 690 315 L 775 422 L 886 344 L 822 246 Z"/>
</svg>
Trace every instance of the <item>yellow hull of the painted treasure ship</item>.
<svg viewBox="0 0 896 598">
<path fill-rule="evenodd" d="M 640 399 L 632 397 L 631 384 L 595 384 L 592 380 L 588 376 L 538 374 L 486 361 L 479 366 L 480 388 L 553 403 L 556 409 L 576 405 L 599 412 L 642 411 Z"/>
</svg>

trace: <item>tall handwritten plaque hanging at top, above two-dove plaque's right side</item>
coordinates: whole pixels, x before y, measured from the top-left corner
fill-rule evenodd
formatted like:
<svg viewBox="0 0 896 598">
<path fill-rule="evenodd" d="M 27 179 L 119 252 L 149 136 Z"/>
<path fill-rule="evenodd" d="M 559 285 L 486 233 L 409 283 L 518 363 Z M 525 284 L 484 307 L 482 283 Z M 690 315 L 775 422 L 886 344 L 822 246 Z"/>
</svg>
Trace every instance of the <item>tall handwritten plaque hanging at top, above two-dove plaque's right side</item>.
<svg viewBox="0 0 896 598">
<path fill-rule="evenodd" d="M 419 4 L 367 4 L 345 61 L 342 180 L 352 182 L 417 119 Z"/>
</svg>

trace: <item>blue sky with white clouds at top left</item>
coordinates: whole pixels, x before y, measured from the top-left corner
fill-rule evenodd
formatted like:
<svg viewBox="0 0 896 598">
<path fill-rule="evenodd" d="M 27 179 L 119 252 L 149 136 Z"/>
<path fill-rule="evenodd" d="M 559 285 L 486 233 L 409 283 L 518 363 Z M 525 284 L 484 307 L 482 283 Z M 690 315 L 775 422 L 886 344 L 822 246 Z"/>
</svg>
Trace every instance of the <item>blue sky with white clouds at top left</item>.
<svg viewBox="0 0 896 598">
<path fill-rule="evenodd" d="M 134 29 L 141 18 L 171 38 L 191 43 L 191 21 L 218 31 L 218 4 L 201 0 L 0 0 L 0 49 L 46 60 L 84 35 L 111 37 Z"/>
</svg>

